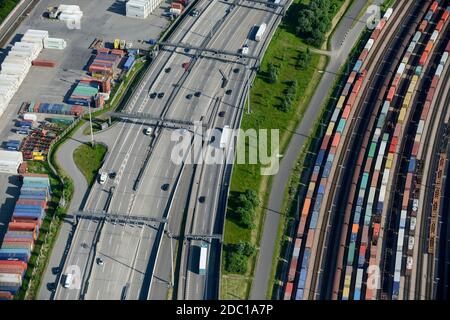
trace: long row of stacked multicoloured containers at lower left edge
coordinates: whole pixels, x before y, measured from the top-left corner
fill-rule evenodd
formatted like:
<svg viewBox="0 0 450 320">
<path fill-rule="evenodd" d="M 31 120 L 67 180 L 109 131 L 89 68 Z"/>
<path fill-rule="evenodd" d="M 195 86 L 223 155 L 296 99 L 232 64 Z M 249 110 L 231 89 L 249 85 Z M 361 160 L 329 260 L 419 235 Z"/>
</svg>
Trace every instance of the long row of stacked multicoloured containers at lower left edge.
<svg viewBox="0 0 450 320">
<path fill-rule="evenodd" d="M 0 248 L 0 300 L 10 300 L 23 277 L 50 199 L 50 180 L 44 174 L 24 174 L 8 231 Z"/>
</svg>

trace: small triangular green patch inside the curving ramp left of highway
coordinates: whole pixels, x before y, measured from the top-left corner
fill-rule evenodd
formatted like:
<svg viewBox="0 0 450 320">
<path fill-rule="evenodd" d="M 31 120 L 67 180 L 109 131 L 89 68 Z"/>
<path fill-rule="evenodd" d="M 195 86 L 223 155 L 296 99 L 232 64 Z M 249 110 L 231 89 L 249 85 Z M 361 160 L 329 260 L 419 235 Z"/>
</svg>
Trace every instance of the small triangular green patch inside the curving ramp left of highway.
<svg viewBox="0 0 450 320">
<path fill-rule="evenodd" d="M 97 172 L 102 166 L 107 148 L 103 144 L 96 143 L 94 147 L 90 143 L 83 144 L 73 152 L 73 160 L 78 169 L 86 177 L 88 185 L 91 186 Z"/>
</svg>

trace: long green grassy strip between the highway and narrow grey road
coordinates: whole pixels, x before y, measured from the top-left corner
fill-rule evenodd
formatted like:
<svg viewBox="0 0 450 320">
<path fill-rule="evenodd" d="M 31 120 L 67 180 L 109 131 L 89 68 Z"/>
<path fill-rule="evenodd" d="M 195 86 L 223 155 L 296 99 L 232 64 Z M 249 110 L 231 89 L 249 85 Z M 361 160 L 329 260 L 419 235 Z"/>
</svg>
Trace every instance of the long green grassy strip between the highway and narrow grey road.
<svg viewBox="0 0 450 320">
<path fill-rule="evenodd" d="M 275 32 L 250 92 L 252 112 L 244 115 L 241 124 L 243 130 L 279 129 L 280 154 L 287 148 L 320 82 L 321 74 L 318 71 L 324 70 L 327 63 L 326 56 L 309 52 L 308 46 L 295 31 L 299 9 L 305 7 L 303 3 L 300 0 L 294 1 Z M 270 74 L 274 73 L 274 70 L 277 79 L 272 83 L 273 76 Z M 246 147 L 248 159 L 248 143 Z M 272 150 L 269 150 L 269 155 L 270 152 Z M 258 250 L 264 208 L 267 206 L 272 182 L 271 176 L 261 175 L 261 168 L 260 164 L 235 164 L 233 169 L 225 221 L 222 299 L 247 299 L 249 295 L 257 255 L 246 257 L 246 272 L 235 273 L 229 271 L 229 254 L 233 245 L 240 241 L 249 242 Z M 253 219 L 254 228 L 248 228 L 236 218 L 240 196 L 248 189 L 255 190 L 260 199 Z M 241 258 L 235 259 L 240 271 L 243 270 L 239 264 Z"/>
</svg>

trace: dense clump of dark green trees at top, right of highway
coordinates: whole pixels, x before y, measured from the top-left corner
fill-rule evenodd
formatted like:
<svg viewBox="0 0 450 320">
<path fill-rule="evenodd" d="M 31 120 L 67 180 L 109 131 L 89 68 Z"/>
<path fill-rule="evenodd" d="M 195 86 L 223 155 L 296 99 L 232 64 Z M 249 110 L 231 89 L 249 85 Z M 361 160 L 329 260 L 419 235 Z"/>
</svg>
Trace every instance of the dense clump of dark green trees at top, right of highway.
<svg viewBox="0 0 450 320">
<path fill-rule="evenodd" d="M 297 34 L 309 45 L 320 48 L 344 0 L 310 0 L 298 11 Z"/>
</svg>

